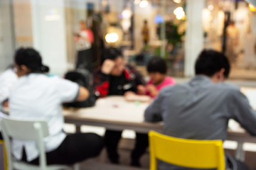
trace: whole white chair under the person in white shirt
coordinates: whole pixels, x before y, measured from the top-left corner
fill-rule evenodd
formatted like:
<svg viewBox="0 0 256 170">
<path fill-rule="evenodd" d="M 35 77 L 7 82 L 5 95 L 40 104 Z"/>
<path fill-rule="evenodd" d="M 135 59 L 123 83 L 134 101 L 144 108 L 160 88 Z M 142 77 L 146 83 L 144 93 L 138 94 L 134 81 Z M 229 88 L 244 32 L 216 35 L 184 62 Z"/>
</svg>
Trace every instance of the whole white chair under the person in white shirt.
<svg viewBox="0 0 256 170">
<path fill-rule="evenodd" d="M 1 132 L 4 137 L 6 145 L 8 169 L 21 169 L 21 170 L 57 170 L 57 169 L 79 169 L 79 164 L 74 167 L 66 165 L 47 165 L 46 163 L 46 150 L 43 144 L 43 137 L 49 135 L 48 125 L 42 120 L 19 120 L 1 116 L 0 120 Z M 39 165 L 27 164 L 15 159 L 11 154 L 11 141 L 10 137 L 19 140 L 34 140 L 38 145 L 39 151 Z"/>
</svg>

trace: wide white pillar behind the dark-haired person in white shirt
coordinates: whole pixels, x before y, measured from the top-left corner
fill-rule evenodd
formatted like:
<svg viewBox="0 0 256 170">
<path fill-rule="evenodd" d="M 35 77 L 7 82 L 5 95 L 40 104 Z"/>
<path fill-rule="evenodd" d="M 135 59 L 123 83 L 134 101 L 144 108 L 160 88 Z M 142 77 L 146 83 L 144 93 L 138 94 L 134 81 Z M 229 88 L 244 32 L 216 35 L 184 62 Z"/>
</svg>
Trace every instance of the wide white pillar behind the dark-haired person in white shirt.
<svg viewBox="0 0 256 170">
<path fill-rule="evenodd" d="M 64 10 L 64 0 L 31 0 L 33 46 L 50 73 L 60 75 L 67 69 Z"/>
</svg>

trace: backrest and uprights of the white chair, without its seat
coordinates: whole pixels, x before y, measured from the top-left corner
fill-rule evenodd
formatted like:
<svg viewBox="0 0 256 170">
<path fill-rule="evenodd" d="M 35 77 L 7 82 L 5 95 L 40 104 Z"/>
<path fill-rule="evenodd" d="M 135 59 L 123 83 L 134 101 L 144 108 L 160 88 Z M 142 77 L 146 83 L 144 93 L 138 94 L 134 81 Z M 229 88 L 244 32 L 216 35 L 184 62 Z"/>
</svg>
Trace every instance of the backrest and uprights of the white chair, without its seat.
<svg viewBox="0 0 256 170">
<path fill-rule="evenodd" d="M 39 162 L 42 168 L 46 167 L 46 152 L 43 137 L 49 135 L 48 125 L 43 120 L 21 120 L 1 115 L 1 132 L 6 145 L 8 166 L 13 166 L 14 160 L 11 154 L 10 137 L 16 140 L 34 140 L 38 145 Z M 12 169 L 12 168 L 10 168 Z"/>
</svg>

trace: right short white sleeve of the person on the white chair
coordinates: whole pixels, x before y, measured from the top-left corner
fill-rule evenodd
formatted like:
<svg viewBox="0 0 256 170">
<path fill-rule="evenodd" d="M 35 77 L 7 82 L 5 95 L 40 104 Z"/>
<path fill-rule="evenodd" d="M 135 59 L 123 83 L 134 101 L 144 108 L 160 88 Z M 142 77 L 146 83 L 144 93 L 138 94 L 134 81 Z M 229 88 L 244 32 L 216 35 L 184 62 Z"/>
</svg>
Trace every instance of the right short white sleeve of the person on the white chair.
<svg viewBox="0 0 256 170">
<path fill-rule="evenodd" d="M 59 78 L 57 89 L 62 103 L 75 101 L 78 98 L 79 86 L 72 81 Z"/>
</svg>

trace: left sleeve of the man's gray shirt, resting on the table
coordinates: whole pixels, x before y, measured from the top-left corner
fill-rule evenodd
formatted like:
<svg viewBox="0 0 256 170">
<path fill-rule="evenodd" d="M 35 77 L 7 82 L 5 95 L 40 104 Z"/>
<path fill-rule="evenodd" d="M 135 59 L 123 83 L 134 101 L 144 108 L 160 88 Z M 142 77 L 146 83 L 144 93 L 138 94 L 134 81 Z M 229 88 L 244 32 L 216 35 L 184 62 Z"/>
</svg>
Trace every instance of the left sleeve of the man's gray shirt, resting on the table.
<svg viewBox="0 0 256 170">
<path fill-rule="evenodd" d="M 158 122 L 163 120 L 161 116 L 161 103 L 162 103 L 162 93 L 157 96 L 153 103 L 149 105 L 148 108 L 146 108 L 146 111 L 144 113 L 144 119 L 147 122 Z"/>
</svg>

